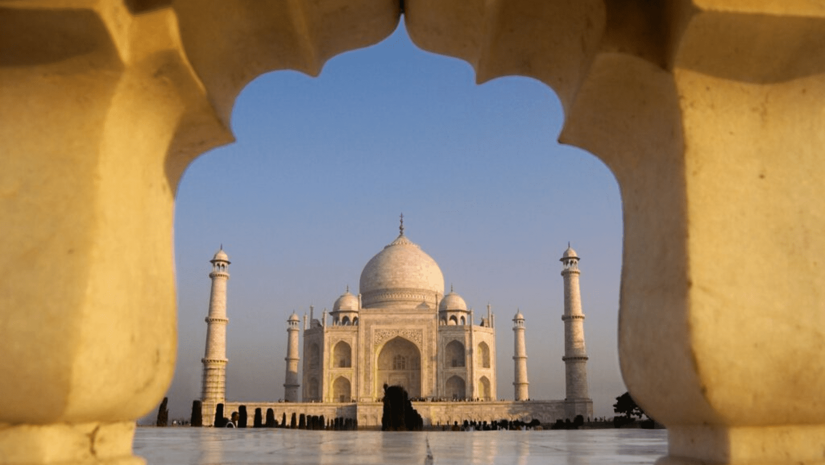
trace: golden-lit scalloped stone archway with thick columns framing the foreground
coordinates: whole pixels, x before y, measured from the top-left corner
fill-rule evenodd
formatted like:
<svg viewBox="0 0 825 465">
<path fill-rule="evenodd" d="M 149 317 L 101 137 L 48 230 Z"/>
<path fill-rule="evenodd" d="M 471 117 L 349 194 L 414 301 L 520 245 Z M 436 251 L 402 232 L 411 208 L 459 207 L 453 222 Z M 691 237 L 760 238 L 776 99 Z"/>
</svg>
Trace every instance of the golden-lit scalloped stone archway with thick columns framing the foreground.
<svg viewBox="0 0 825 465">
<path fill-rule="evenodd" d="M 617 178 L 620 363 L 668 461 L 821 463 L 825 7 L 406 0 L 422 49 L 559 95 Z M 397 26 L 394 0 L 0 8 L 0 284 L 11 463 L 131 458 L 175 353 L 172 208 L 233 100 Z M 48 128 L 48 130 L 44 130 Z M 54 440 L 59 438 L 59 440 Z M 92 453 L 94 451 L 94 453 Z"/>
</svg>

